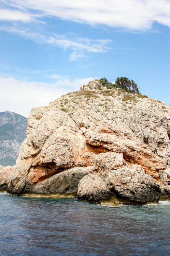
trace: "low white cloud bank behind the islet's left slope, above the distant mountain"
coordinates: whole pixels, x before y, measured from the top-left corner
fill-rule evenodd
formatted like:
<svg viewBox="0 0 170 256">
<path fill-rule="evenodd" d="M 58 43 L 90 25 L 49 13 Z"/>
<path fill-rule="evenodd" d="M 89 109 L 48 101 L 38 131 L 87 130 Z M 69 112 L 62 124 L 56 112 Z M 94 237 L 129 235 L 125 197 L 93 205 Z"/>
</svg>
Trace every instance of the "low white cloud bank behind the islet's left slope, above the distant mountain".
<svg viewBox="0 0 170 256">
<path fill-rule="evenodd" d="M 81 79 L 58 79 L 53 84 L 26 82 L 14 77 L 0 77 L 0 112 L 12 111 L 28 117 L 34 107 L 47 106 L 63 94 L 79 90 L 80 85 L 88 84 L 96 77 Z"/>
</svg>

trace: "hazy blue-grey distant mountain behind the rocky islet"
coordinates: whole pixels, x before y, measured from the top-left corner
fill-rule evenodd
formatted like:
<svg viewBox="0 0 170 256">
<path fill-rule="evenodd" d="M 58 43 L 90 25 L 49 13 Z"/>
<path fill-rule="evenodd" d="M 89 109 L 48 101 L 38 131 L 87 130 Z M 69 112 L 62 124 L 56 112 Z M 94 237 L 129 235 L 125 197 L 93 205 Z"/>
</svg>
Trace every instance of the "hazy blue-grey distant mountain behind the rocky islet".
<svg viewBox="0 0 170 256">
<path fill-rule="evenodd" d="M 0 112 L 0 165 L 16 164 L 26 128 L 26 117 L 10 111 Z"/>
</svg>

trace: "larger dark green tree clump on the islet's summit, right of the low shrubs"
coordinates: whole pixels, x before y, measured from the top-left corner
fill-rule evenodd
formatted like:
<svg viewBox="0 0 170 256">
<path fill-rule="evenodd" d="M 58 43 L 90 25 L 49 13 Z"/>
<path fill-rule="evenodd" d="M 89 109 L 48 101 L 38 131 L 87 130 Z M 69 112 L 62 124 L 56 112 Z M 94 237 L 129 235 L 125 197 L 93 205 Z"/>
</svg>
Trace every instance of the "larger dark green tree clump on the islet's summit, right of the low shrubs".
<svg viewBox="0 0 170 256">
<path fill-rule="evenodd" d="M 134 80 L 129 80 L 127 77 L 118 77 L 115 84 L 123 91 L 129 91 L 130 93 L 139 93 L 139 88 Z"/>
</svg>

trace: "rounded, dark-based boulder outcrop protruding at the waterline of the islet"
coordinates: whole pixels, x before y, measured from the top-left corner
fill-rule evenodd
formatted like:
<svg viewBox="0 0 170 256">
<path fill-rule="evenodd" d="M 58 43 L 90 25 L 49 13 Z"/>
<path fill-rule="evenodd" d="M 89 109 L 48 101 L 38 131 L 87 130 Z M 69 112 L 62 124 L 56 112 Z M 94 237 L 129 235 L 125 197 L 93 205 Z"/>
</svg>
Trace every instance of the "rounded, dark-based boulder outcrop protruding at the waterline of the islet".
<svg viewBox="0 0 170 256">
<path fill-rule="evenodd" d="M 93 174 L 80 180 L 78 198 L 92 202 L 114 201 L 121 196 L 139 203 L 153 202 L 162 195 L 161 182 L 145 174 L 141 165 L 129 166 L 123 154 L 106 153 L 96 157 Z M 164 193 L 168 196 L 168 193 Z"/>
</svg>

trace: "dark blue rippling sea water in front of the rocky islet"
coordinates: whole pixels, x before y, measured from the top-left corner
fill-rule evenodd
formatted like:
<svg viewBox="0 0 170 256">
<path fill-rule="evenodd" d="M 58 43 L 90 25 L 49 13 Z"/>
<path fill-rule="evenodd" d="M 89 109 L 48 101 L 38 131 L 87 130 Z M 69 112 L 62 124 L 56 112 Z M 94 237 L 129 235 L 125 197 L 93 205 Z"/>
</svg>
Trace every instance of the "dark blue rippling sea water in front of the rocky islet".
<svg viewBox="0 0 170 256">
<path fill-rule="evenodd" d="M 0 194 L 0 255 L 170 255 L 170 204 L 106 207 Z"/>
</svg>

